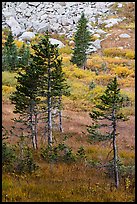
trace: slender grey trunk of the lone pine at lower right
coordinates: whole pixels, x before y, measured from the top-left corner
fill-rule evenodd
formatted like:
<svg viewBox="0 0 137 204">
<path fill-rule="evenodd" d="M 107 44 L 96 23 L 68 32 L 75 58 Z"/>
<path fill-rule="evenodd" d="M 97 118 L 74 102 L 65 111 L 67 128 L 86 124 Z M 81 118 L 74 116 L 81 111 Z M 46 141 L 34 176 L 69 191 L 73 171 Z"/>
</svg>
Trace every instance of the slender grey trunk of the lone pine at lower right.
<svg viewBox="0 0 137 204">
<path fill-rule="evenodd" d="M 117 156 L 117 146 L 116 146 L 116 119 L 115 110 L 113 110 L 113 153 L 114 153 L 114 174 L 115 174 L 115 185 L 116 188 L 119 187 L 119 172 L 118 172 L 118 156 Z"/>
</svg>

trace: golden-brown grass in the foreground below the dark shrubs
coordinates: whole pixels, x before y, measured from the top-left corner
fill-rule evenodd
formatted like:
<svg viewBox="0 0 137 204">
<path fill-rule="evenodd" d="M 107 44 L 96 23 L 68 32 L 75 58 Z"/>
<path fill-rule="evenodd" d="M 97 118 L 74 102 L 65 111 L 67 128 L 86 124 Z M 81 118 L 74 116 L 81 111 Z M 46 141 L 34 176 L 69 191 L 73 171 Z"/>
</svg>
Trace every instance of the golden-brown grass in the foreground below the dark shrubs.
<svg viewBox="0 0 137 204">
<path fill-rule="evenodd" d="M 33 175 L 3 173 L 2 201 L 8 202 L 114 202 L 134 201 L 134 188 L 116 191 L 102 171 L 76 164 L 47 164 Z"/>
</svg>

